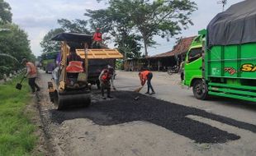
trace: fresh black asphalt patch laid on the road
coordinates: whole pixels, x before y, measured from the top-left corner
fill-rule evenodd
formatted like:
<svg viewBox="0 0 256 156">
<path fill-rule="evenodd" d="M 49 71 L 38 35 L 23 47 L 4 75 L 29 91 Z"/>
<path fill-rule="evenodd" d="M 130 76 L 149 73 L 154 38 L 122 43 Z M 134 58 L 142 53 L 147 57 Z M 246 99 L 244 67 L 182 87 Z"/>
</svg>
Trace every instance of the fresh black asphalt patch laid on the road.
<svg viewBox="0 0 256 156">
<path fill-rule="evenodd" d="M 206 117 L 230 126 L 256 133 L 256 126 L 235 121 L 197 108 L 168 103 L 143 94 L 130 91 L 113 92 L 115 99 L 92 98 L 89 108 L 76 108 L 65 111 L 50 110 L 52 122 L 61 123 L 75 118 L 88 118 L 101 126 L 111 126 L 125 122 L 146 121 L 162 126 L 169 131 L 183 135 L 197 143 L 225 143 L 239 140 L 240 136 L 222 131 L 205 123 L 194 121 L 187 115 Z M 97 94 L 93 95 L 97 97 Z M 140 99 L 135 100 L 135 97 Z"/>
</svg>

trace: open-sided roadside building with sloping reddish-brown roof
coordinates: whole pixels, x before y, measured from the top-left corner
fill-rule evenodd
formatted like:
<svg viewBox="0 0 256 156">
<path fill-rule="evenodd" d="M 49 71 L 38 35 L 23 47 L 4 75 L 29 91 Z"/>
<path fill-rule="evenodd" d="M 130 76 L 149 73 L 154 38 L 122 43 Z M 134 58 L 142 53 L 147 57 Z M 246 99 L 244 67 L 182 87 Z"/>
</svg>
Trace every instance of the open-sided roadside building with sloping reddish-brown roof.
<svg viewBox="0 0 256 156">
<path fill-rule="evenodd" d="M 126 71 L 140 71 L 142 67 L 149 67 L 151 71 L 167 71 L 168 67 L 178 65 L 185 60 L 187 50 L 196 36 L 183 38 L 166 53 L 159 53 L 145 58 L 126 60 Z"/>
</svg>

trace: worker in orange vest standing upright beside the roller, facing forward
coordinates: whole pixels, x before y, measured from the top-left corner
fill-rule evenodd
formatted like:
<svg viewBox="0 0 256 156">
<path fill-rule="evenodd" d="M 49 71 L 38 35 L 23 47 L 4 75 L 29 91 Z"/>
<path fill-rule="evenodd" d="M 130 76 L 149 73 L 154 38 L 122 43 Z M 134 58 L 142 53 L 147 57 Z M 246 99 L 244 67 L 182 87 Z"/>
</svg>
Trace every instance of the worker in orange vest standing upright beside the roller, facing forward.
<svg viewBox="0 0 256 156">
<path fill-rule="evenodd" d="M 110 95 L 111 91 L 111 77 L 113 75 L 114 69 L 112 67 L 107 67 L 107 69 L 103 69 L 101 75 L 99 76 L 101 91 L 102 91 L 102 99 L 106 99 L 104 96 L 104 89 L 107 89 L 107 98 L 112 99 Z"/>
</svg>

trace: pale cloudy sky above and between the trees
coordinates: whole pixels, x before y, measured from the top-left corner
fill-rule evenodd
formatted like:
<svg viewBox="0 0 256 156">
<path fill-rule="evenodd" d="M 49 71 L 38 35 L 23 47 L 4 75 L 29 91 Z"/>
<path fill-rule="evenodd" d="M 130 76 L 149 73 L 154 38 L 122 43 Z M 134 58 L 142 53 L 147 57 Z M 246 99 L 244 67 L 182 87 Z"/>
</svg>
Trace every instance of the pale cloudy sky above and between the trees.
<svg viewBox="0 0 256 156">
<path fill-rule="evenodd" d="M 96 10 L 106 8 L 105 2 L 98 3 L 97 0 L 5 0 L 12 7 L 12 21 L 25 30 L 31 41 L 31 50 L 36 56 L 40 56 L 42 48 L 40 41 L 51 29 L 58 28 L 57 20 L 65 18 L 68 20 L 88 20 L 83 13 L 86 9 Z M 220 0 L 193 0 L 197 3 L 198 10 L 193 12 L 191 18 L 194 25 L 183 30 L 182 34 L 175 36 L 167 42 L 166 39 L 154 37 L 158 45 L 149 48 L 149 55 L 165 53 L 172 50 L 177 37 L 189 37 L 197 35 L 198 30 L 206 28 L 211 19 L 222 11 L 222 6 L 217 4 Z M 243 0 L 227 0 L 230 5 Z M 112 45 L 110 45 L 112 47 Z M 144 49 L 142 49 L 143 52 Z"/>
</svg>

